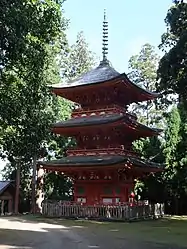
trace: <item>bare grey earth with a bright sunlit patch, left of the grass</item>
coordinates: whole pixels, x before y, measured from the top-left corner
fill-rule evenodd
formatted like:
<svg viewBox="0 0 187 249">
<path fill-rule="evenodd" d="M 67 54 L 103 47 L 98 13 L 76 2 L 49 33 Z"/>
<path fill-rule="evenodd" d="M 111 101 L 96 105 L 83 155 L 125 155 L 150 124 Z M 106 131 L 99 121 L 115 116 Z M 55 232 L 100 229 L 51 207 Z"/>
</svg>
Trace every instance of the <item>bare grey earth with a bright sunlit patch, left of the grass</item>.
<svg viewBox="0 0 187 249">
<path fill-rule="evenodd" d="M 67 222 L 65 222 L 66 224 Z M 172 245 L 140 242 L 117 232 L 73 225 L 50 224 L 24 218 L 0 218 L 0 249 L 183 249 Z"/>
</svg>

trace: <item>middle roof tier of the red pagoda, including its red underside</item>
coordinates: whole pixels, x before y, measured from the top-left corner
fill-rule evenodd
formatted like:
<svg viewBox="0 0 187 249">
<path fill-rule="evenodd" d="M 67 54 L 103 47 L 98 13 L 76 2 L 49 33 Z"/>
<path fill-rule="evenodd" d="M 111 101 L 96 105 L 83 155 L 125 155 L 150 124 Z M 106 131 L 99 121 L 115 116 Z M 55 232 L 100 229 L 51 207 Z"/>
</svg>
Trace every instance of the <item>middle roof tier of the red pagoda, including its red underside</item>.
<svg viewBox="0 0 187 249">
<path fill-rule="evenodd" d="M 75 136 L 77 133 L 87 132 L 89 129 L 119 128 L 132 137 L 149 137 L 158 135 L 162 130 L 150 128 L 138 123 L 128 114 L 114 113 L 87 117 L 72 118 L 67 121 L 56 123 L 52 131 L 61 135 Z M 134 135 L 134 136 L 133 136 Z"/>
</svg>

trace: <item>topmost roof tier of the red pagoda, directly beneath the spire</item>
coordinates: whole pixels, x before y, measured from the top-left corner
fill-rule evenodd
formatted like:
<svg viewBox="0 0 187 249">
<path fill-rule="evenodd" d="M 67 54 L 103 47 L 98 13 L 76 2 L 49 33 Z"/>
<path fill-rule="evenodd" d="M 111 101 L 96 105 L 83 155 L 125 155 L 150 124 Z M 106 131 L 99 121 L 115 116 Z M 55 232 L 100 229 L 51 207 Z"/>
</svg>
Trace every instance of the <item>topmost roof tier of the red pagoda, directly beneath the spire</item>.
<svg viewBox="0 0 187 249">
<path fill-rule="evenodd" d="M 97 68 L 66 84 L 52 86 L 52 92 L 81 105 L 91 106 L 94 101 L 89 103 L 90 97 L 93 93 L 99 92 L 100 87 L 104 87 L 105 91 L 108 89 L 110 94 L 110 98 L 101 98 L 101 101 L 105 101 L 104 104 L 112 102 L 113 104 L 126 105 L 151 100 L 159 96 L 158 93 L 145 90 L 131 82 L 125 73 L 118 73 L 108 61 L 102 61 Z M 88 103 L 85 92 L 86 96 L 89 96 Z"/>
</svg>

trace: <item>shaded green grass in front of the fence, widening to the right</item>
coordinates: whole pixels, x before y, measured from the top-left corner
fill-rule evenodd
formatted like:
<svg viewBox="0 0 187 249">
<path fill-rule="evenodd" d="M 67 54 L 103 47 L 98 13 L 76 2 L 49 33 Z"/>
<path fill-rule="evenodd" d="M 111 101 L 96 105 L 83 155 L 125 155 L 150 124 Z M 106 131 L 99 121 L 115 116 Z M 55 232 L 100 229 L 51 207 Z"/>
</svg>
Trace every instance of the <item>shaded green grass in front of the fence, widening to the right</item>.
<svg viewBox="0 0 187 249">
<path fill-rule="evenodd" d="M 112 236 L 114 239 L 129 238 L 187 248 L 187 216 L 171 216 L 159 220 L 132 223 L 43 218 L 37 218 L 37 220 L 75 229 L 85 227 L 88 228 L 87 231 L 96 236 Z"/>
</svg>

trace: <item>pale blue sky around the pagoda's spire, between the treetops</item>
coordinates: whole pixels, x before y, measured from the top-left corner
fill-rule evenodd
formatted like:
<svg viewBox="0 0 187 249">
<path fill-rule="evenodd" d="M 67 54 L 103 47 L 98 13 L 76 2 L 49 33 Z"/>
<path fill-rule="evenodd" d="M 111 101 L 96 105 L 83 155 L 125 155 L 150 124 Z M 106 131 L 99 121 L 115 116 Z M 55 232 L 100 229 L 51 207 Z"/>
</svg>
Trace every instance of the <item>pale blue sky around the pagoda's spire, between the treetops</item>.
<svg viewBox="0 0 187 249">
<path fill-rule="evenodd" d="M 164 19 L 172 0 L 66 0 L 64 14 L 70 19 L 68 38 L 74 43 L 83 31 L 90 49 L 101 58 L 103 12 L 109 22 L 109 55 L 120 73 L 128 71 L 129 58 L 145 43 L 158 47 L 166 30 Z"/>
</svg>

